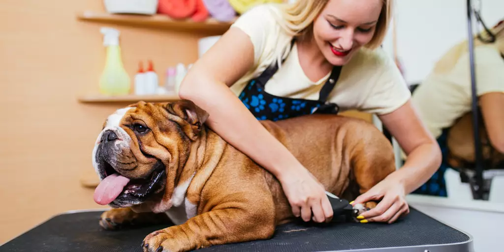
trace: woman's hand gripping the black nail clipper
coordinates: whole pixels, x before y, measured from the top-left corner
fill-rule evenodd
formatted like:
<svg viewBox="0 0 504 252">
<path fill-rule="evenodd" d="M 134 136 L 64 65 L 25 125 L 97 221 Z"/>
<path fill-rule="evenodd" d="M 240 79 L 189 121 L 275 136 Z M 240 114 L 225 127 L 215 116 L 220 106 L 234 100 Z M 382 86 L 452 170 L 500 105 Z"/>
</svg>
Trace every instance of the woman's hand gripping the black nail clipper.
<svg viewBox="0 0 504 252">
<path fill-rule="evenodd" d="M 304 167 L 285 171 L 278 179 L 294 216 L 304 221 L 330 222 L 333 208 L 324 186 Z"/>
</svg>

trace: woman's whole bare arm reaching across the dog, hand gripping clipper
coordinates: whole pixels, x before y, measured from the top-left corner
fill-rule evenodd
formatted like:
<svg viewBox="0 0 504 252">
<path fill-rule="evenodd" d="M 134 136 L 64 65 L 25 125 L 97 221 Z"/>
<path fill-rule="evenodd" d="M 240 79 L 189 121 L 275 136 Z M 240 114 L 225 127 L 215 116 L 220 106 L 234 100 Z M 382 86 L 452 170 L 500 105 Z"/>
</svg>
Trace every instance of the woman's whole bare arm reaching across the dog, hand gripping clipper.
<svg viewBox="0 0 504 252">
<path fill-rule="evenodd" d="M 296 217 L 330 221 L 333 215 L 325 189 L 276 140 L 229 89 L 254 63 L 254 45 L 232 27 L 187 72 L 179 89 L 209 113 L 206 124 L 229 144 L 276 176 Z"/>
</svg>

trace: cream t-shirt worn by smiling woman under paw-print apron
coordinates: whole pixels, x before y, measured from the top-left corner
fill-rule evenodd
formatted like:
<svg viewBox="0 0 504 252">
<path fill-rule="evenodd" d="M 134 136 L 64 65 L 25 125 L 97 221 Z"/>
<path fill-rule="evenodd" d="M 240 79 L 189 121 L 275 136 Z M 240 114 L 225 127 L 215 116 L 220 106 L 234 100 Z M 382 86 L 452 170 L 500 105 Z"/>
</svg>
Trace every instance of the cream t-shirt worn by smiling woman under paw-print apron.
<svg viewBox="0 0 504 252">
<path fill-rule="evenodd" d="M 279 44 L 292 39 L 281 30 L 272 12 L 278 9 L 264 4 L 241 15 L 232 27 L 244 31 L 254 45 L 254 77 L 259 76 L 275 58 L 273 52 Z M 266 83 L 269 94 L 317 100 L 327 76 L 318 81 L 310 81 L 304 74 L 294 44 L 288 57 L 276 74 Z M 242 78 L 231 86 L 239 95 L 249 79 Z M 337 103 L 340 111 L 356 109 L 368 113 L 386 114 L 402 106 L 410 98 L 410 91 L 394 61 L 382 48 L 370 50 L 361 48 L 347 65 L 343 66 L 335 88 L 328 97 Z"/>
</svg>

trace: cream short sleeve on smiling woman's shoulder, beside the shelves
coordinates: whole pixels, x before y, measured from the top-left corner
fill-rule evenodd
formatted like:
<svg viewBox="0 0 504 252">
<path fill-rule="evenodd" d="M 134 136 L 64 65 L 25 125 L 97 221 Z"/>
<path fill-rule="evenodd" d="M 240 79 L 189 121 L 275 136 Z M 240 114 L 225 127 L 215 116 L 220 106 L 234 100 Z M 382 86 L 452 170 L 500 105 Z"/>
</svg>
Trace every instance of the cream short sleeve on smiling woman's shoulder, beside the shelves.
<svg viewBox="0 0 504 252">
<path fill-rule="evenodd" d="M 268 4 L 256 6 L 243 13 L 231 25 L 245 32 L 254 45 L 254 62 L 258 64 L 261 56 L 267 54 L 267 50 L 272 50 L 272 42 L 278 35 L 278 25 L 273 17 L 274 9 Z"/>
</svg>

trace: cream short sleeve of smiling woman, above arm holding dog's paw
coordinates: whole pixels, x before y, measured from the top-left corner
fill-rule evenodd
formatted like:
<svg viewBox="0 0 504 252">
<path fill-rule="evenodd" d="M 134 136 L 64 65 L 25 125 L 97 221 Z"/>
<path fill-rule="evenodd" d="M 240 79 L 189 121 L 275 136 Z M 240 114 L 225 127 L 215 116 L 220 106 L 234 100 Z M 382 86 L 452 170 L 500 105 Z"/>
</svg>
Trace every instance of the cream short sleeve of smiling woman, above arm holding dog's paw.
<svg viewBox="0 0 504 252">
<path fill-rule="evenodd" d="M 385 53 L 379 60 L 382 67 L 378 70 L 382 73 L 377 75 L 379 77 L 375 80 L 370 80 L 374 84 L 370 85 L 368 97 L 361 110 L 382 115 L 404 105 L 411 98 L 411 92 L 394 61 Z"/>
</svg>

